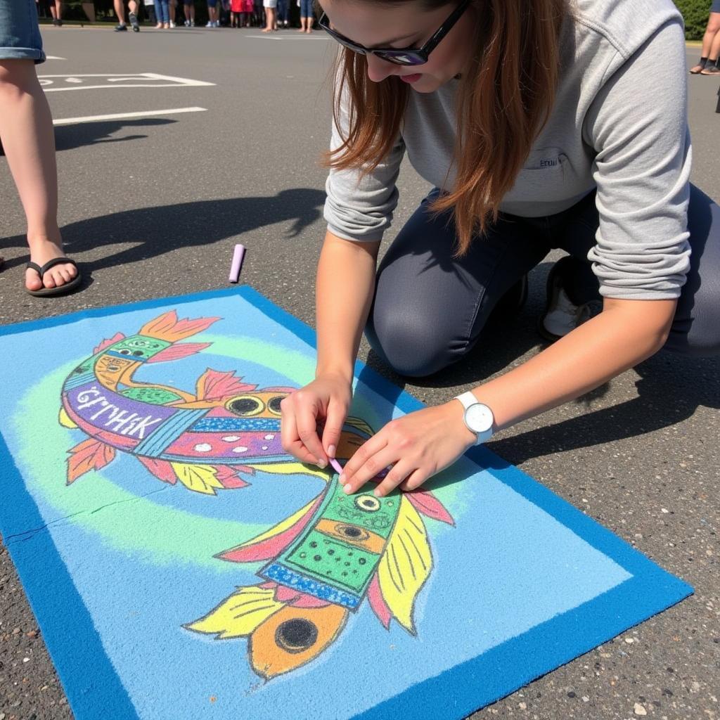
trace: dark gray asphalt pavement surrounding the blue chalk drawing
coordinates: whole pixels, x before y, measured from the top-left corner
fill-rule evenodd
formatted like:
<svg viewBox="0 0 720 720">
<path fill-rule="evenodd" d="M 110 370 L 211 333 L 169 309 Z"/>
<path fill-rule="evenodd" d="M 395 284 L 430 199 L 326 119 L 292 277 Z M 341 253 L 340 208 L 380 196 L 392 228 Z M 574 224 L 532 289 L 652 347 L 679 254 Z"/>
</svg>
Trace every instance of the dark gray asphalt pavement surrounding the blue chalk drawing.
<svg viewBox="0 0 720 720">
<path fill-rule="evenodd" d="M 242 282 L 312 324 L 333 42 L 294 30 L 68 25 L 45 27 L 43 40 L 58 59 L 37 71 L 55 121 L 69 121 L 55 128 L 60 224 L 86 287 L 55 299 L 24 293 L 24 216 L 0 158 L 0 323 L 224 287 L 240 242 Z M 688 48 L 688 60 L 698 55 Z M 690 78 L 693 182 L 716 201 L 717 84 Z M 407 162 L 399 186 L 386 242 L 428 189 Z M 361 359 L 431 404 L 521 363 L 542 348 L 534 328 L 557 256 L 531 274 L 528 303 L 510 326 L 485 333 L 453 369 L 413 384 L 368 356 L 366 343 Z M 660 352 L 490 443 L 696 593 L 474 719 L 720 719 L 719 369 L 718 359 Z M 71 717 L 0 546 L 0 720 Z"/>
</svg>

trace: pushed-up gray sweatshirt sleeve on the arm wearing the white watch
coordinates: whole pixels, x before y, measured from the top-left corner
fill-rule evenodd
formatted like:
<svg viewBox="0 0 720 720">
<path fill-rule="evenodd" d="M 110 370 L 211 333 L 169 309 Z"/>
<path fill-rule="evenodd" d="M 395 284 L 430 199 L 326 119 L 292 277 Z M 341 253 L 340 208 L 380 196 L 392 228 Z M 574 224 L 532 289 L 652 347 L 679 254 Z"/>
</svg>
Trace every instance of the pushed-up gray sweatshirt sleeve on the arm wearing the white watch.
<svg viewBox="0 0 720 720">
<path fill-rule="evenodd" d="M 690 133 L 681 22 L 654 32 L 607 79 L 585 118 L 600 225 L 588 253 L 604 297 L 680 295 L 690 266 Z"/>
</svg>

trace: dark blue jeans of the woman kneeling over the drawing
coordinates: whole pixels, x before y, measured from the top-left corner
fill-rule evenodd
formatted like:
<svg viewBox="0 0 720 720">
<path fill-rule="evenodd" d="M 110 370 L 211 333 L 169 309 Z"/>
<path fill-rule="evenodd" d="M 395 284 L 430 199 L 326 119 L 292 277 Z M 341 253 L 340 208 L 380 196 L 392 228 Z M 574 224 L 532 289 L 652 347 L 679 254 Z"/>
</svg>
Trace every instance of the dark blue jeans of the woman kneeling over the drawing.
<svg viewBox="0 0 720 720">
<path fill-rule="evenodd" d="M 591 193 L 547 217 L 500 215 L 463 258 L 452 256 L 454 225 L 433 220 L 433 191 L 398 233 L 377 271 L 366 326 L 370 345 L 395 372 L 423 377 L 458 361 L 477 342 L 493 307 L 518 279 L 554 248 L 582 261 L 572 279 L 576 302 L 599 298 L 587 256 L 595 244 L 598 210 Z M 720 354 L 720 207 L 690 187 L 690 271 L 665 349 Z"/>
</svg>

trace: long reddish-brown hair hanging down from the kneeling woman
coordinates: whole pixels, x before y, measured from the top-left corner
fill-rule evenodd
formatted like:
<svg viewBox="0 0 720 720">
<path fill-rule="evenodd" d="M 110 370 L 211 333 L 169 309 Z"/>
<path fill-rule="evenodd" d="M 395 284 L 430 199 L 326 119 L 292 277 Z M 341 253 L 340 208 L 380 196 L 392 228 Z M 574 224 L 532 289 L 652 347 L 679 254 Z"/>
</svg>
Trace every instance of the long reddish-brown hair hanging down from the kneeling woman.
<svg viewBox="0 0 720 720">
<path fill-rule="evenodd" d="M 426 8 L 449 4 L 422 2 Z M 483 233 L 497 220 L 500 201 L 552 112 L 567 3 L 474 0 L 467 11 L 476 9 L 476 50 L 458 91 L 456 181 L 430 206 L 433 212 L 452 210 L 458 256 L 467 253 L 474 233 Z M 348 94 L 348 130 L 344 142 L 325 153 L 323 164 L 372 172 L 400 132 L 410 89 L 397 76 L 369 81 L 366 57 L 348 48 L 338 55 L 336 77 L 333 117 L 341 127 L 341 96 Z"/>
</svg>

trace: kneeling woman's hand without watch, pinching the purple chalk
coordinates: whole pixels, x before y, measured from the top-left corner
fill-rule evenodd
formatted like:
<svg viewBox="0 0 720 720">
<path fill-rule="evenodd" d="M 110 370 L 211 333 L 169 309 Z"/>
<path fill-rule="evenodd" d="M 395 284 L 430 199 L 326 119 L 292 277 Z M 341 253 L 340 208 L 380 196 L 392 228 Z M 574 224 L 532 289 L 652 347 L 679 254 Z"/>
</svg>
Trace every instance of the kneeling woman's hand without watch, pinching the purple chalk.
<svg viewBox="0 0 720 720">
<path fill-rule="evenodd" d="M 281 437 L 285 452 L 300 462 L 324 468 L 335 457 L 350 409 L 352 385 L 340 375 L 320 375 L 280 403 Z M 318 434 L 322 428 L 322 439 Z"/>
</svg>

